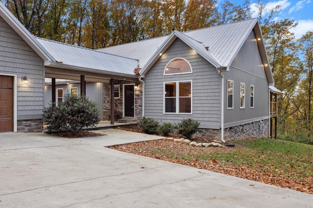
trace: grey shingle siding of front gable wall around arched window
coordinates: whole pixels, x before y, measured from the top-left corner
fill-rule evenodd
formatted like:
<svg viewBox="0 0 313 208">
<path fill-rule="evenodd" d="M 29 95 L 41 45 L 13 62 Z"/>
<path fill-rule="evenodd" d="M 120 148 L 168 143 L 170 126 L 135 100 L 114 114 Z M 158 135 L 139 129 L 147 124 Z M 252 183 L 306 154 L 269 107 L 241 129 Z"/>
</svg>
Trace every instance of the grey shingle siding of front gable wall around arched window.
<svg viewBox="0 0 313 208">
<path fill-rule="evenodd" d="M 166 65 L 174 58 L 185 58 L 192 67 L 192 74 L 164 76 Z M 192 81 L 192 114 L 164 114 L 164 82 Z M 195 50 L 177 38 L 145 75 L 145 117 L 164 122 L 179 122 L 194 118 L 201 128 L 219 129 L 221 118 L 221 78 L 215 67 Z"/>
</svg>

